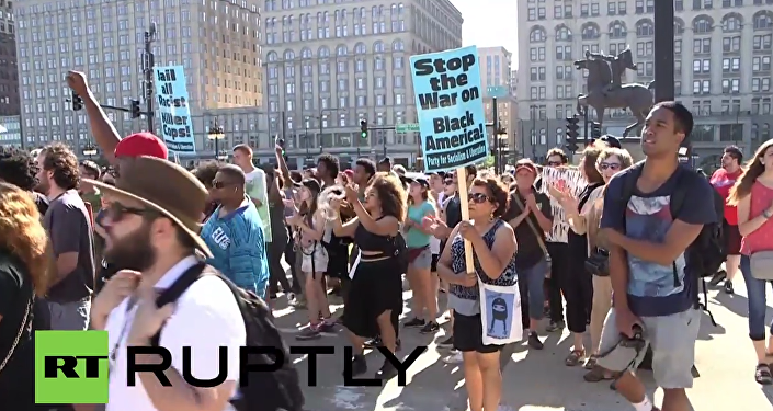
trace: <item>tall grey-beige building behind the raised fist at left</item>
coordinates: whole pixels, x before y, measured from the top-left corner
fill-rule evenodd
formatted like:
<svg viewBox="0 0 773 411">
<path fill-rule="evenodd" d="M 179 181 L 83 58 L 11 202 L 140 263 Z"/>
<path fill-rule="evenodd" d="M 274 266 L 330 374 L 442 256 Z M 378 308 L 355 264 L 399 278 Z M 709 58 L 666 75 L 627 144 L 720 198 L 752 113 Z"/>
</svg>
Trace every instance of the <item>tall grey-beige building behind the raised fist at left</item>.
<svg viewBox="0 0 773 411">
<path fill-rule="evenodd" d="M 68 70 L 86 72 L 102 104 L 129 107 L 144 100 L 145 32 L 156 26 L 156 66 L 185 68 L 194 116 L 205 110 L 262 104 L 259 0 L 24 0 L 15 7 L 27 146 L 90 144 L 86 113 L 72 112 Z M 118 133 L 144 130 L 145 118 L 106 110 Z M 156 117 L 156 134 L 160 135 Z M 194 128 L 201 153 L 212 150 L 206 127 Z M 224 144 L 236 141 L 227 135 Z M 254 136 L 254 141 L 258 136 Z"/>
</svg>

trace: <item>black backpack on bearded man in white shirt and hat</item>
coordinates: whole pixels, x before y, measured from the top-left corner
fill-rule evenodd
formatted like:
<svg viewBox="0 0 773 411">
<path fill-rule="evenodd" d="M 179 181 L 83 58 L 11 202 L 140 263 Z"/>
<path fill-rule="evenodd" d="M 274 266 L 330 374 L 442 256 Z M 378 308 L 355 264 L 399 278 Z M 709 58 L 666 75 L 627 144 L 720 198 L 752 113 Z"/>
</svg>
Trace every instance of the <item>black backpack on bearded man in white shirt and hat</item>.
<svg viewBox="0 0 773 411">
<path fill-rule="evenodd" d="M 237 411 L 302 411 L 304 393 L 300 389 L 298 372 L 293 365 L 289 350 L 282 339 L 280 330 L 274 324 L 271 309 L 252 292 L 237 287 L 230 279 L 224 277 L 215 269 L 200 263 L 189 269 L 171 287 L 159 295 L 156 304 L 162 307 L 174 302 L 180 296 L 205 275 L 216 275 L 228 285 L 245 320 L 248 346 L 274 346 L 284 353 L 281 368 L 271 373 L 252 373 L 249 386 L 239 387 L 241 398 L 232 401 Z M 162 330 L 161 330 L 162 331 Z M 159 345 L 160 334 L 154 335 L 152 345 Z M 252 356 L 258 364 L 273 364 L 274 358 L 268 354 Z"/>
</svg>

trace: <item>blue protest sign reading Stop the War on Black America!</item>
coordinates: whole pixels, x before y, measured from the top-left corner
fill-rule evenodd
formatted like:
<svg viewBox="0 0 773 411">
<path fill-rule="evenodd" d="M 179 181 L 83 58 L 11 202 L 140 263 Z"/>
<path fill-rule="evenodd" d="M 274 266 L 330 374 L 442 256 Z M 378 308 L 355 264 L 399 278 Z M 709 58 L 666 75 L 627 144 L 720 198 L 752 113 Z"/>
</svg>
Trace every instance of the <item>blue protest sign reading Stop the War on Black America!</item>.
<svg viewBox="0 0 773 411">
<path fill-rule="evenodd" d="M 489 141 L 475 46 L 413 56 L 411 76 L 424 171 L 450 171 L 486 159 Z"/>
</svg>

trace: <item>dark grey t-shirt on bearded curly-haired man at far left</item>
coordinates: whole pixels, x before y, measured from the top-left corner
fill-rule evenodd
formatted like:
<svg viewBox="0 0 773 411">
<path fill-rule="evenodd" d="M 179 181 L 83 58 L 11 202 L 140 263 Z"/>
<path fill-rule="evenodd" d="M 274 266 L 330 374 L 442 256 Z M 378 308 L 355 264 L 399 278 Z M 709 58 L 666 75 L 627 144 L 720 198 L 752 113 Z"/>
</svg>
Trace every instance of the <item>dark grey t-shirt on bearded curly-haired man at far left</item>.
<svg viewBox="0 0 773 411">
<path fill-rule="evenodd" d="M 89 210 L 75 190 L 52 199 L 43 226 L 50 236 L 54 256 L 78 253 L 76 269 L 48 292 L 48 299 L 72 302 L 89 297 L 94 289 L 94 235 Z"/>
</svg>

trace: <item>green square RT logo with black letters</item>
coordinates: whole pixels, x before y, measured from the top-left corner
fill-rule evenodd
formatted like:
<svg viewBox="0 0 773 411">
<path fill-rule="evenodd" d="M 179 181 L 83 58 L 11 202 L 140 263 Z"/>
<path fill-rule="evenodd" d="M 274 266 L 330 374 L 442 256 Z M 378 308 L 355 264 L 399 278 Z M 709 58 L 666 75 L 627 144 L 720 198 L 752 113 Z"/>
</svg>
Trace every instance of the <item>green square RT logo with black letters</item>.
<svg viewBox="0 0 773 411">
<path fill-rule="evenodd" d="M 35 403 L 107 403 L 107 331 L 35 331 Z"/>
</svg>

